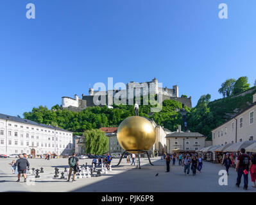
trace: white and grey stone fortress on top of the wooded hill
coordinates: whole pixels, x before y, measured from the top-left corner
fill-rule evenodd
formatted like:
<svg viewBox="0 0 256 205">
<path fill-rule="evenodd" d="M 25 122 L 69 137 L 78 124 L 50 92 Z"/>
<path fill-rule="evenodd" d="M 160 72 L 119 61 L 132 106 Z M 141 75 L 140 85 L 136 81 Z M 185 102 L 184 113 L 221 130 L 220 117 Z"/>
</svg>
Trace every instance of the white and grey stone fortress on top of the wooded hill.
<svg viewBox="0 0 256 205">
<path fill-rule="evenodd" d="M 162 83 L 159 83 L 162 85 Z M 93 88 L 89 88 L 89 95 L 81 95 L 82 97 L 78 97 L 78 95 L 74 95 L 74 98 L 72 97 L 62 97 L 62 108 L 65 108 L 67 110 L 72 110 L 72 111 L 81 111 L 85 108 L 92 107 L 92 106 L 101 106 L 97 105 L 94 103 L 94 97 L 96 95 L 98 96 L 103 96 L 106 99 L 105 105 L 107 105 L 109 108 L 112 108 L 108 104 L 112 105 L 113 103 L 113 98 L 115 95 L 120 95 L 120 94 L 127 94 L 128 95 L 128 90 L 132 90 L 133 95 L 132 99 L 135 96 L 136 90 L 141 90 L 141 95 L 144 94 L 145 90 L 148 92 L 148 90 L 153 90 L 154 94 L 157 95 L 162 95 L 162 101 L 165 99 L 172 99 L 175 101 L 182 102 L 182 106 L 187 106 L 189 108 L 192 107 L 191 104 L 191 97 L 178 97 L 178 85 L 174 85 L 173 88 L 162 88 L 158 86 L 158 80 L 156 78 L 152 79 L 152 81 L 149 82 L 144 82 L 144 83 L 135 83 L 134 81 L 131 81 L 130 83 L 126 84 L 126 89 L 113 89 L 113 90 L 107 90 L 107 91 L 99 91 L 99 90 L 94 90 Z M 108 94 L 111 93 L 112 99 L 108 97 Z M 101 98 L 101 97 L 99 97 Z M 131 97 L 130 97 L 131 98 Z M 110 103 L 108 103 L 110 102 Z"/>
</svg>

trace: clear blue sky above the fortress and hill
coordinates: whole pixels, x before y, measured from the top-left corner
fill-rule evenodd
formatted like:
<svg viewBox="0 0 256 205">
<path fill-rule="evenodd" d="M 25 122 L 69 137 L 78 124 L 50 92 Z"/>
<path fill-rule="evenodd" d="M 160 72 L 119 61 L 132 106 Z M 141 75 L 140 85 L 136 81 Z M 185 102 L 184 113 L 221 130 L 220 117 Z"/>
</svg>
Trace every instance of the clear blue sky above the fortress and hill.
<svg viewBox="0 0 256 205">
<path fill-rule="evenodd" d="M 36 19 L 26 19 L 26 4 Z M 218 5 L 228 4 L 228 19 Z M 156 77 L 196 105 L 227 78 L 256 79 L 255 0 L 1 0 L 0 113 Z"/>
</svg>

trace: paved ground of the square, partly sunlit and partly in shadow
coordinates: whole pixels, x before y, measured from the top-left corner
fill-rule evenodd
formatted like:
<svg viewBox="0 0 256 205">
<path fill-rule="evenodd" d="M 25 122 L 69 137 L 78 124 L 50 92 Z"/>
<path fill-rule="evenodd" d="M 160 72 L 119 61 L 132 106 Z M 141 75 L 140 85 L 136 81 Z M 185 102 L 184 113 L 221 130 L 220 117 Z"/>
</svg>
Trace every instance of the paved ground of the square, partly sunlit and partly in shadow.
<svg viewBox="0 0 256 205">
<path fill-rule="evenodd" d="M 0 159 L 0 191 L 1 192 L 256 192 L 252 188 L 249 176 L 248 190 L 235 187 L 236 172 L 230 168 L 228 185 L 220 186 L 219 170 L 224 169 L 219 164 L 203 163 L 201 174 L 185 176 L 183 167 L 171 166 L 171 172 L 165 172 L 164 161 L 159 158 L 152 160 L 154 166 L 149 165 L 146 158 L 141 159 L 142 168 L 136 168 L 126 163 L 123 159 L 119 167 L 112 167 L 112 172 L 103 174 L 101 177 L 76 179 L 74 183 L 66 182 L 65 179 L 54 179 L 55 167 L 60 172 L 67 166 L 67 159 L 30 159 L 30 168 L 44 168 L 44 174 L 33 181 L 17 183 L 17 176 L 12 174 L 10 163 L 12 159 Z M 80 164 L 91 164 L 92 160 L 80 160 Z M 117 164 L 118 159 L 112 161 Z M 158 176 L 155 176 L 158 173 Z M 59 174 L 60 177 L 61 174 Z"/>
</svg>

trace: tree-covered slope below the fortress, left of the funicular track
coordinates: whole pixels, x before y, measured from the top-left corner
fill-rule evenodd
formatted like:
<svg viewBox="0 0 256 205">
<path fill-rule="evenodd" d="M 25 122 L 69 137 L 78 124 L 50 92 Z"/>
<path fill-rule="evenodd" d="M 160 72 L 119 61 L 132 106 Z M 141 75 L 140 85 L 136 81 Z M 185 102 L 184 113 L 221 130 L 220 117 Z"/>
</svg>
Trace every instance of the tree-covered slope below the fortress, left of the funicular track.
<svg viewBox="0 0 256 205">
<path fill-rule="evenodd" d="M 151 107 L 150 105 L 140 106 L 139 115 L 152 118 L 157 124 L 171 130 L 177 129 L 178 124 L 182 124 L 182 115 L 176 111 L 182 108 L 182 103 L 165 100 L 162 111 L 149 116 Z M 187 108 L 187 110 L 189 109 Z M 85 130 L 100 127 L 119 126 L 124 119 L 133 115 L 133 106 L 114 105 L 113 109 L 109 109 L 107 106 L 95 106 L 80 112 L 65 110 L 59 105 L 53 106 L 51 110 L 46 106 L 39 106 L 23 115 L 25 119 L 62 127 L 75 133 L 83 133 Z"/>
</svg>

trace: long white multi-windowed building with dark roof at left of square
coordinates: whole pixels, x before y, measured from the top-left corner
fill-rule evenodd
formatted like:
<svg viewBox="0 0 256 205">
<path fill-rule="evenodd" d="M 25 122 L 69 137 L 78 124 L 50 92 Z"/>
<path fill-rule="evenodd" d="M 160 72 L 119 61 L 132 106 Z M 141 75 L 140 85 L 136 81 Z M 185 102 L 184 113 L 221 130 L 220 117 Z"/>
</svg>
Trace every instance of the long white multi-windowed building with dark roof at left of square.
<svg viewBox="0 0 256 205">
<path fill-rule="evenodd" d="M 58 127 L 0 114 L 0 154 L 71 154 L 73 133 Z"/>
</svg>

